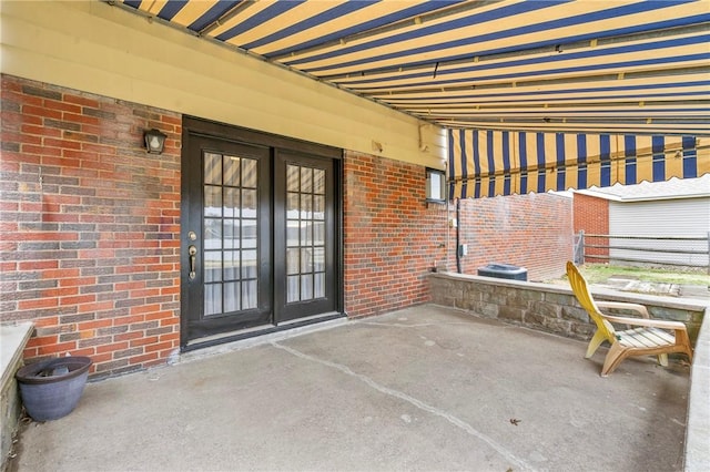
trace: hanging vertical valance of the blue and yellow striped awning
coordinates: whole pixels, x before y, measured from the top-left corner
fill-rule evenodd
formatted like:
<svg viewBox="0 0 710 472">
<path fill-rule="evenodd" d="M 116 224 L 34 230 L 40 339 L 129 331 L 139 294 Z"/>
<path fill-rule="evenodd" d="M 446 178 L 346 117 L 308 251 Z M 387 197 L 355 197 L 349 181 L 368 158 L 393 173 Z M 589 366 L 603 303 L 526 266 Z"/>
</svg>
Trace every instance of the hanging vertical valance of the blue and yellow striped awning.
<svg viewBox="0 0 710 472">
<path fill-rule="evenodd" d="M 608 187 L 710 173 L 710 138 L 449 131 L 449 197 Z"/>
</svg>

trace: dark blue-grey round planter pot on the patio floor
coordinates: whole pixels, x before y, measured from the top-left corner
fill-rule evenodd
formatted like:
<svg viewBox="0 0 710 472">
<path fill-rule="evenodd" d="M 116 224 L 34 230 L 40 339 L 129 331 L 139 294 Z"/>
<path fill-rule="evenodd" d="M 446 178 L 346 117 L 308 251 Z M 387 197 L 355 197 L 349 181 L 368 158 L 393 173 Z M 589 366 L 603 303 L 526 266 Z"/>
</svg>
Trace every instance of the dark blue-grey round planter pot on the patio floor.
<svg viewBox="0 0 710 472">
<path fill-rule="evenodd" d="M 50 421 L 71 413 L 84 391 L 90 367 L 88 357 L 61 357 L 18 370 L 16 378 L 28 414 L 34 421 Z"/>
</svg>

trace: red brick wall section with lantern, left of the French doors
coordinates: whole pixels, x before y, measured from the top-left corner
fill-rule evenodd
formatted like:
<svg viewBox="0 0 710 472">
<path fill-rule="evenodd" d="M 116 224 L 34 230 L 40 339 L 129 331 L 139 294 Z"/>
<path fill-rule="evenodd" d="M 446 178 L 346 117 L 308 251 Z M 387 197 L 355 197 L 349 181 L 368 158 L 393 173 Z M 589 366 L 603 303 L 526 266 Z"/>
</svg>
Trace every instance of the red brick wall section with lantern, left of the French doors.
<svg viewBox="0 0 710 472">
<path fill-rule="evenodd" d="M 163 363 L 180 342 L 181 116 L 2 75 L 0 321 L 24 357 L 92 374 Z M 148 155 L 143 130 L 169 135 Z"/>
</svg>

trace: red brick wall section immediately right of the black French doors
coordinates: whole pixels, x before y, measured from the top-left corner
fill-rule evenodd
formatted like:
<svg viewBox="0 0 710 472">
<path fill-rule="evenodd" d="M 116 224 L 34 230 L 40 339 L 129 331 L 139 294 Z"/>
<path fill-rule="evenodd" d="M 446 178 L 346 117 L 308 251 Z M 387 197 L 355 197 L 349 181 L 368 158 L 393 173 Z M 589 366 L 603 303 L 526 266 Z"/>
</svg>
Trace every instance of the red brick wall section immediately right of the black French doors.
<svg viewBox="0 0 710 472">
<path fill-rule="evenodd" d="M 428 301 L 445 257 L 446 205 L 425 203 L 425 168 L 346 152 L 345 310 L 376 315 Z"/>
</svg>

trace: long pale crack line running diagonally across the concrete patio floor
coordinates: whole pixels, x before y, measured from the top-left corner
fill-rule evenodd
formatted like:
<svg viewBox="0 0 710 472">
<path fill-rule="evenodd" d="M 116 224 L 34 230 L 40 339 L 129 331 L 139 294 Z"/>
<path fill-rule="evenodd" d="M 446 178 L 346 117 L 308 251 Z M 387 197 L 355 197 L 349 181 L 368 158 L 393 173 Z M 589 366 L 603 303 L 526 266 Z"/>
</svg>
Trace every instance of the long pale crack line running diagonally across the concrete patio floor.
<svg viewBox="0 0 710 472">
<path fill-rule="evenodd" d="M 404 392 L 400 392 L 398 390 L 394 390 L 390 389 L 388 387 L 382 386 L 379 383 L 377 383 L 376 381 L 374 381 L 373 379 L 371 379 L 367 376 L 364 376 L 362 373 L 357 373 L 355 371 L 353 371 L 349 367 L 347 366 L 343 366 L 341 363 L 337 362 L 332 362 L 329 360 L 325 360 L 325 359 L 321 359 L 314 356 L 310 356 L 305 352 L 301 352 L 296 349 L 290 348 L 287 346 L 283 346 L 280 345 L 278 342 L 272 341 L 271 345 L 277 349 L 282 349 L 285 350 L 286 352 L 296 356 L 301 359 L 305 359 L 312 362 L 316 362 L 326 367 L 329 367 L 332 369 L 336 369 L 339 370 L 341 372 L 349 376 L 349 377 L 354 377 L 357 380 L 362 381 L 363 383 L 372 387 L 373 389 L 379 391 L 381 393 L 387 394 L 389 397 L 395 397 L 398 398 L 399 400 L 404 400 L 407 403 L 418 408 L 419 410 L 426 411 L 430 414 L 434 414 L 436 417 L 443 418 L 444 420 L 448 421 L 449 423 L 454 424 L 455 427 L 464 430 L 466 433 L 481 440 L 483 442 L 485 442 L 486 444 L 488 444 L 490 448 L 493 448 L 496 452 L 498 452 L 500 455 L 503 455 L 506 460 L 513 462 L 514 464 L 516 464 L 519 469 L 523 470 L 535 470 L 535 468 L 532 468 L 531 465 L 529 465 L 527 462 L 525 462 L 523 459 L 518 458 L 517 455 L 515 455 L 513 452 L 510 452 L 509 450 L 507 450 L 504 445 L 497 443 L 495 440 L 493 440 L 491 438 L 487 437 L 486 434 L 481 433 L 480 431 L 478 431 L 476 428 L 474 428 L 473 425 L 468 424 L 466 421 L 456 418 L 455 415 L 447 413 L 444 410 L 440 410 L 436 407 L 433 407 L 430 404 L 427 404 L 425 402 L 423 402 L 422 400 L 417 400 L 414 397 L 410 397 Z"/>
</svg>

